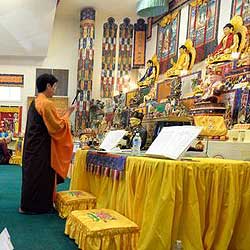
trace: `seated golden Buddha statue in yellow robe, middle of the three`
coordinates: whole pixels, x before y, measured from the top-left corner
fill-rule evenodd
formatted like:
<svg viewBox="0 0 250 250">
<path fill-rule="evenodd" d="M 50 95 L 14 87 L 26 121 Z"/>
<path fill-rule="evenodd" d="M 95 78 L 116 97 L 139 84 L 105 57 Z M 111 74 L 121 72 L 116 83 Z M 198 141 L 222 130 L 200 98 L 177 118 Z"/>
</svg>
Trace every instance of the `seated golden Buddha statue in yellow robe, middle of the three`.
<svg viewBox="0 0 250 250">
<path fill-rule="evenodd" d="M 165 76 L 167 78 L 179 76 L 184 70 L 188 73 L 191 71 L 194 65 L 196 58 L 196 50 L 193 47 L 193 42 L 190 39 L 187 39 L 185 45 L 182 45 L 179 48 L 179 52 L 180 56 L 176 63 L 173 61 L 173 59 L 171 59 L 171 64 L 173 66 L 165 73 Z"/>
</svg>

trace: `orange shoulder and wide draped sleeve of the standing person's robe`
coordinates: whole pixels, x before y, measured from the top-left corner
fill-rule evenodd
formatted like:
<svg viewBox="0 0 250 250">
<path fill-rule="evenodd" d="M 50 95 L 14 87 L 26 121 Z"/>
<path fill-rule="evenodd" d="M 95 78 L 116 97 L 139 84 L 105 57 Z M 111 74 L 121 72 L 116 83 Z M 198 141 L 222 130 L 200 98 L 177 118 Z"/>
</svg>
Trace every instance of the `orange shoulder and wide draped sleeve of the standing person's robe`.
<svg viewBox="0 0 250 250">
<path fill-rule="evenodd" d="M 51 167 L 65 179 L 73 153 L 69 117 L 67 115 L 60 117 L 55 104 L 44 94 L 37 96 L 35 107 L 51 136 Z"/>
</svg>

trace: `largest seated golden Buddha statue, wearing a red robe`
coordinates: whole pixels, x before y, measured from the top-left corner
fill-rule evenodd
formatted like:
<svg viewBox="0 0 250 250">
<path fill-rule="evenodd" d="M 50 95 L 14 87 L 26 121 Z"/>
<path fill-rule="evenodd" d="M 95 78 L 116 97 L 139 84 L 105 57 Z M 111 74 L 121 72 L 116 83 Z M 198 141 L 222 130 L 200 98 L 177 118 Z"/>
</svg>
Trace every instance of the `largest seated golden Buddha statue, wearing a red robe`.
<svg viewBox="0 0 250 250">
<path fill-rule="evenodd" d="M 224 26 L 223 32 L 224 36 L 221 42 L 215 51 L 208 56 L 208 64 L 237 59 L 237 54 L 240 54 L 245 47 L 247 28 L 243 25 L 242 17 L 234 16 L 230 23 Z"/>
</svg>

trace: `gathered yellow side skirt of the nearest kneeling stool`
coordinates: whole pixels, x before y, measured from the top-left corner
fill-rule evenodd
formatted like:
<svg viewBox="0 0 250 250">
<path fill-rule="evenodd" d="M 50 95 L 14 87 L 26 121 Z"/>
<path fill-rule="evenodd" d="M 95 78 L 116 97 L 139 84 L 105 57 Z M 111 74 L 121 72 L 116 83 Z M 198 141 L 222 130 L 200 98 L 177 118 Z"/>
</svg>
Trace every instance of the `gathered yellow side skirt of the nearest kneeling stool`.
<svg viewBox="0 0 250 250">
<path fill-rule="evenodd" d="M 82 250 L 137 250 L 139 227 L 123 227 L 98 232 L 89 231 L 80 220 L 70 214 L 65 231 Z"/>
</svg>

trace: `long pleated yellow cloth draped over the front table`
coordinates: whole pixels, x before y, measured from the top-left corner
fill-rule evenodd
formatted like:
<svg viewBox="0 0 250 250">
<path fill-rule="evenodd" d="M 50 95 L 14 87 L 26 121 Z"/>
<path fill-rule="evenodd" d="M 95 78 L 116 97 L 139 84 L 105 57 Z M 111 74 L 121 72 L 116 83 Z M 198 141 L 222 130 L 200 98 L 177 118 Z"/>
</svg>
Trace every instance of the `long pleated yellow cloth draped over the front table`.
<svg viewBox="0 0 250 250">
<path fill-rule="evenodd" d="M 71 189 L 91 192 L 140 227 L 139 250 L 250 249 L 250 162 L 127 157 L 114 181 L 86 171 L 87 151 L 76 153 Z"/>
</svg>

